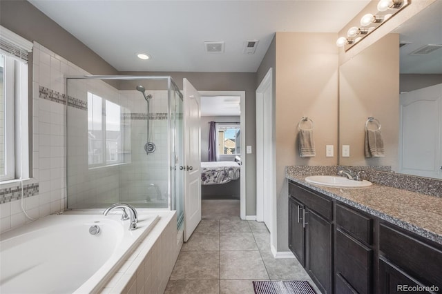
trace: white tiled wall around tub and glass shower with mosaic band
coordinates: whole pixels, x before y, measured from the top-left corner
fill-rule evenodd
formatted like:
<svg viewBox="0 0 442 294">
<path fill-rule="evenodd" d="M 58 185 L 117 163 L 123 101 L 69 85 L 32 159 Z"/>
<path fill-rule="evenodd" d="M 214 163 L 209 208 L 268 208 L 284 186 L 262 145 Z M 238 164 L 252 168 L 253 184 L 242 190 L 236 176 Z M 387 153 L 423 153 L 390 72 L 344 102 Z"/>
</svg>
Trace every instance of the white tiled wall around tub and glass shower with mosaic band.
<svg viewBox="0 0 442 294">
<path fill-rule="evenodd" d="M 0 232 L 17 228 L 31 221 L 23 213 L 21 206 L 33 219 L 66 209 L 68 185 L 66 182 L 66 104 L 70 115 L 81 113 L 79 116 L 84 117 L 87 114 L 86 96 L 81 98 L 81 96 L 70 95 L 68 97 L 64 89 L 64 76 L 89 75 L 88 72 L 36 42 L 32 62 L 32 130 L 30 130 L 32 132 L 32 179 L 23 181 L 23 201 L 21 201 L 21 183 L 15 182 L 0 186 Z M 136 90 L 117 91 L 103 82 L 100 87 L 106 93 L 113 93 L 112 95 L 122 101 L 123 106 L 133 109 L 135 113 L 140 112 L 135 110 L 146 109 L 144 97 Z M 168 107 L 167 91 L 146 90 L 146 94 L 153 95 L 151 100 L 153 138 L 151 141 L 155 141 L 157 150 L 146 156 L 144 153 L 146 135 L 143 135 L 146 133 L 146 121 L 145 119 L 131 119 L 131 124 L 134 126 L 131 131 L 134 134 L 132 137 L 138 140 L 138 142 L 132 141 L 131 144 L 139 146 L 133 149 L 136 151 L 132 153 L 131 162 L 136 163 L 137 168 L 131 168 L 127 173 L 122 173 L 121 177 L 116 171 L 113 173 L 112 169 L 106 168 L 105 172 L 97 173 L 94 177 L 84 177 L 83 180 L 78 176 L 80 169 L 76 169 L 77 175 L 73 174 L 73 177 L 76 177 L 75 181 L 73 178 L 68 181 L 69 184 L 76 186 L 77 192 L 79 187 L 82 187 L 75 201 L 94 202 L 98 200 L 93 196 L 99 198 L 106 195 L 109 197 L 108 201 L 113 202 L 117 199 L 115 184 L 118 183 L 124 183 L 120 189 L 123 199 L 127 199 L 124 197 L 129 197 L 129 195 L 135 199 L 167 197 L 169 171 L 166 167 L 168 156 L 165 115 Z M 129 116 L 137 117 L 137 115 Z M 79 119 L 74 126 L 85 130 L 84 124 L 87 124 L 87 117 Z M 75 130 L 69 131 L 75 132 Z M 76 135 L 82 137 L 82 141 L 80 140 L 78 144 L 85 144 L 85 140 L 87 144 L 87 134 L 83 136 L 76 133 Z M 81 153 L 87 153 L 87 149 L 84 145 L 77 147 L 79 147 L 78 153 L 74 153 L 73 156 L 81 157 L 82 161 L 79 161 L 79 165 L 83 164 L 81 170 L 85 170 L 87 156 Z M 148 168 L 142 167 L 142 161 L 148 161 Z M 146 179 L 150 180 L 146 181 Z M 90 188 L 92 184 L 102 188 L 94 191 Z M 160 188 L 161 196 L 157 195 L 157 190 L 153 189 L 151 184 Z"/>
</svg>

